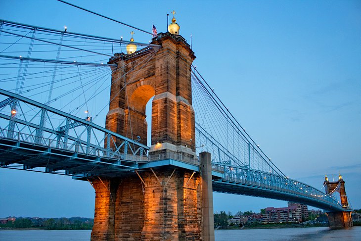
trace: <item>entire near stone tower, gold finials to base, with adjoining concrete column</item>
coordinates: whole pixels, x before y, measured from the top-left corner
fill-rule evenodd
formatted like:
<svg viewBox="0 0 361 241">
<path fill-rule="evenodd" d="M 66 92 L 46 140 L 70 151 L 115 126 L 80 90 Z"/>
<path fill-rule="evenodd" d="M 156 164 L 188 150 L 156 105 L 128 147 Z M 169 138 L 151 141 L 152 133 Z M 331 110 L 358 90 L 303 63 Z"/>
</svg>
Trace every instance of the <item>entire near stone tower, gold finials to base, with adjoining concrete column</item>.
<svg viewBox="0 0 361 241">
<path fill-rule="evenodd" d="M 96 193 L 91 240 L 212 241 L 211 156 L 200 153 L 202 176 L 198 168 L 184 168 L 186 162 L 198 165 L 191 90 L 195 55 L 179 35 L 175 18 L 169 32 L 159 33 L 151 44 L 162 46 L 154 56 L 144 54 L 147 49 L 136 51 L 131 43 L 127 54 L 116 53 L 110 59 L 117 67 L 112 69 L 105 126 L 146 145 L 145 106 L 154 96 L 152 162 L 143 164 L 146 168 L 139 172 L 91 180 Z M 105 145 L 114 147 L 112 143 Z M 177 160 L 184 158 L 183 166 L 164 164 L 175 156 Z"/>
</svg>

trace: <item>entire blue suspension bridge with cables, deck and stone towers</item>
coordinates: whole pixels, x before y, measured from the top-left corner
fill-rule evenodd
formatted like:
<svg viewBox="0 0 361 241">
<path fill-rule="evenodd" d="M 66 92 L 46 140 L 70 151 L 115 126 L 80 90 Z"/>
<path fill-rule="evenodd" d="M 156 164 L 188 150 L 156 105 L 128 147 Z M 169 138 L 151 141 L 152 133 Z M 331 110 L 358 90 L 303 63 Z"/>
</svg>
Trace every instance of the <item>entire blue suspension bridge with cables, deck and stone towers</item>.
<svg viewBox="0 0 361 241">
<path fill-rule="evenodd" d="M 122 221 L 109 221 L 111 213 L 118 215 L 117 198 L 123 211 L 130 212 L 124 207 L 127 203 L 131 209 L 142 205 L 138 210 L 142 214 L 130 214 L 143 218 L 142 224 L 128 227 L 135 233 L 140 230 L 136 237 L 174 231 L 174 225 L 164 224 L 171 221 L 155 224 L 160 216 L 147 200 L 157 198 L 157 188 L 152 187 L 158 184 L 162 197 L 167 185 L 168 193 L 174 187 L 179 203 L 180 178 L 181 187 L 195 193 L 182 191 L 181 200 L 187 203 L 183 208 L 178 204 L 177 213 L 183 221 L 175 222 L 178 230 L 193 237 L 207 233 L 206 221 L 203 231 L 184 227 L 202 219 L 205 196 L 212 201 L 212 191 L 294 201 L 330 213 L 350 211 L 346 197 L 336 197 L 346 195 L 340 192 L 342 182 L 332 188 L 325 183 L 325 193 L 277 168 L 192 65 L 194 52 L 174 24 L 175 18 L 169 32 L 144 44 L 133 37 L 111 39 L 0 20 L 0 167 L 89 181 L 97 193 L 94 240 L 109 239 L 110 233 L 124 238 Z M 145 119 L 148 101 L 152 101 L 151 140 Z M 210 153 L 204 157 L 209 160 L 200 157 L 205 152 Z M 202 170 L 206 161 L 210 169 Z M 202 175 L 208 171 L 211 193 L 203 186 L 207 181 Z M 133 197 L 124 201 L 120 182 L 134 189 L 130 195 L 143 204 Z M 121 193 L 125 192 L 123 188 Z M 109 203 L 104 204 L 103 195 L 114 204 L 105 211 Z M 186 195 L 194 201 L 192 207 Z M 167 205 L 157 208 L 169 212 L 171 204 Z M 186 218 L 190 211 L 185 206 L 195 210 L 195 221 Z M 100 224 L 105 219 L 107 224 Z M 186 235 L 179 232 L 182 240 Z"/>
</svg>

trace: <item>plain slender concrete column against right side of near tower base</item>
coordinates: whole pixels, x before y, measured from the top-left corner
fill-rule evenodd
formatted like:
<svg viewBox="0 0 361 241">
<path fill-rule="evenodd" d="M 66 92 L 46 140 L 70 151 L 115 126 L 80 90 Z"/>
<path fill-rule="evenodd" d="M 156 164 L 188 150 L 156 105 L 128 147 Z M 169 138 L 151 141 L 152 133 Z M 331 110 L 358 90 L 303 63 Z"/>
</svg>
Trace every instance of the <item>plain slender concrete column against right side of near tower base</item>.
<svg viewBox="0 0 361 241">
<path fill-rule="evenodd" d="M 204 241 L 214 241 L 213 190 L 211 153 L 199 153 L 202 178 L 202 216 Z"/>
</svg>

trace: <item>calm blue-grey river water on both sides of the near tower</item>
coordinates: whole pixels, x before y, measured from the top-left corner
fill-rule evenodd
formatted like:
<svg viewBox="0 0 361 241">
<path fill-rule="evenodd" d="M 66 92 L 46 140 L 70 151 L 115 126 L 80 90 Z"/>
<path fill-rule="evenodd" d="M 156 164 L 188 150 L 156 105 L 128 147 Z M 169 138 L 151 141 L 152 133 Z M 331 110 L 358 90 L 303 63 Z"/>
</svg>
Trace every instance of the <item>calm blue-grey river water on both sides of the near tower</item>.
<svg viewBox="0 0 361 241">
<path fill-rule="evenodd" d="M 90 230 L 6 230 L 0 241 L 89 241 Z M 357 241 L 361 227 L 330 230 L 320 228 L 216 230 L 216 241 Z"/>
</svg>

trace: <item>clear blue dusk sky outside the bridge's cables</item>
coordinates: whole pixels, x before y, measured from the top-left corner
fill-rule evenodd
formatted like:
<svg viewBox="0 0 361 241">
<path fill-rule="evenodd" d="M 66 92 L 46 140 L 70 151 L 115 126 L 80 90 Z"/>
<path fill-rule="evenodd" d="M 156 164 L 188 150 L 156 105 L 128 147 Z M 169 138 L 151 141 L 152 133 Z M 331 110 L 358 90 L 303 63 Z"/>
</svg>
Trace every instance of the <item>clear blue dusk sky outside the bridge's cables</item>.
<svg viewBox="0 0 361 241">
<path fill-rule="evenodd" d="M 175 9 L 197 69 L 282 172 L 318 189 L 325 173 L 341 172 L 361 208 L 361 1 L 69 1 L 158 32 Z M 0 0 L 0 18 L 112 38 L 132 31 L 56 0 Z M 135 31 L 135 40 L 149 36 Z M 94 190 L 0 169 L 0 202 L 0 217 L 92 217 Z M 284 205 L 214 193 L 215 211 Z"/>
</svg>

